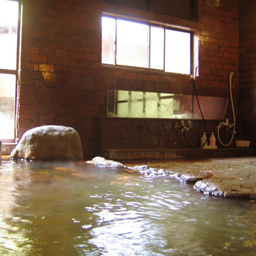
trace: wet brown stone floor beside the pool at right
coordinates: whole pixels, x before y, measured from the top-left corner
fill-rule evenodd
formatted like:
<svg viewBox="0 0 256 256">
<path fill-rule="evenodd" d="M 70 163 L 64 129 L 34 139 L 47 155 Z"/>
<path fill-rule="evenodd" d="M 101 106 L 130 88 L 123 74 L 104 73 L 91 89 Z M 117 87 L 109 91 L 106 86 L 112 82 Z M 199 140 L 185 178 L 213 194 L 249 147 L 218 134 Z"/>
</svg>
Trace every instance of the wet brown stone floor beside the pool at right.
<svg viewBox="0 0 256 256">
<path fill-rule="evenodd" d="M 138 161 L 122 163 L 125 166 L 138 165 Z M 256 199 L 256 157 L 150 160 L 139 161 L 139 164 L 161 170 L 159 176 L 164 170 L 164 176 L 192 183 L 202 193 Z"/>
</svg>

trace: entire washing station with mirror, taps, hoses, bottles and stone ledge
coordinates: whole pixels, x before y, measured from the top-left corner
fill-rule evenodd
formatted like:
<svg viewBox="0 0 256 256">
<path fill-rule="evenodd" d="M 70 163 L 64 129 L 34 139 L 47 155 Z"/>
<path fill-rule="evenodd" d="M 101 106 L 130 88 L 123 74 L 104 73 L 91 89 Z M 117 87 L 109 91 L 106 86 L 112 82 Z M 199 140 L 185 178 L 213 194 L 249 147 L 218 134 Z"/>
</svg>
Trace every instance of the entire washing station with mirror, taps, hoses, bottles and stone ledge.
<svg viewBox="0 0 256 256">
<path fill-rule="evenodd" d="M 233 72 L 230 98 L 197 95 L 196 75 L 194 95 L 108 90 L 107 117 L 99 119 L 100 155 L 107 159 L 251 156 L 250 147 L 235 143 L 243 134 L 235 115 L 232 77 Z"/>
</svg>

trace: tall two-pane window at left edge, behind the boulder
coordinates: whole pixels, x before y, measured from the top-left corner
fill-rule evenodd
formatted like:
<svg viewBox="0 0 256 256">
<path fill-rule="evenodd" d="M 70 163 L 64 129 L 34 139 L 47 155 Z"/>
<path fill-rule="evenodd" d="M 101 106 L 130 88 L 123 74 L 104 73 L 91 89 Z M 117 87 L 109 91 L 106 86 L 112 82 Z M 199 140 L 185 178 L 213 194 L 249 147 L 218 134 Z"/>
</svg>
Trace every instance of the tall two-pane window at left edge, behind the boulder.
<svg viewBox="0 0 256 256">
<path fill-rule="evenodd" d="M 14 140 L 18 1 L 0 1 L 0 139 Z"/>
</svg>

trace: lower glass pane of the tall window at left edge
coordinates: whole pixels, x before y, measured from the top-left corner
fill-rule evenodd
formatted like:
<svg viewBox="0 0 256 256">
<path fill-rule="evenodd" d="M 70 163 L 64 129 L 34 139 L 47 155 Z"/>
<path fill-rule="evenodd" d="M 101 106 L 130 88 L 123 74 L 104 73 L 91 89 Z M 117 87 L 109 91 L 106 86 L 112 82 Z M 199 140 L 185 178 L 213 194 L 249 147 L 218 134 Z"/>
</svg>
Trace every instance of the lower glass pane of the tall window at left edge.
<svg viewBox="0 0 256 256">
<path fill-rule="evenodd" d="M 0 74 L 0 138 L 14 139 L 16 75 Z"/>
</svg>

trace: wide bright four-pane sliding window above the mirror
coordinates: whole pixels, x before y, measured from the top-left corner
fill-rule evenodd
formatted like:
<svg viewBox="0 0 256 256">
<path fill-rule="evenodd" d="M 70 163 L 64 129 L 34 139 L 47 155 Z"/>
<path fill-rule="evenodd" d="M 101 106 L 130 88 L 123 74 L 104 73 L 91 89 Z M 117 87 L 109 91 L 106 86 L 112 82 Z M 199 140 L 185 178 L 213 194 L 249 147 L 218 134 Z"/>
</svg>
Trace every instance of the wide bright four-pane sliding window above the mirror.
<svg viewBox="0 0 256 256">
<path fill-rule="evenodd" d="M 102 17 L 102 63 L 191 74 L 193 33 Z"/>
</svg>

